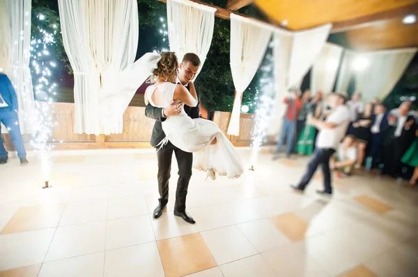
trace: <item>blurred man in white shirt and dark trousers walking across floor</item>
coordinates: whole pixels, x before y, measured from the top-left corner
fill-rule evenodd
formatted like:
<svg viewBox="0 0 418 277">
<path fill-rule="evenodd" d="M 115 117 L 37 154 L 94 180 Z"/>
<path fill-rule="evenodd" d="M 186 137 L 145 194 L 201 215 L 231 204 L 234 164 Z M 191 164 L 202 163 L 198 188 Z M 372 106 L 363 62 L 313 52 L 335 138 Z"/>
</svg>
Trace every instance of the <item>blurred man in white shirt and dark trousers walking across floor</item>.
<svg viewBox="0 0 418 277">
<path fill-rule="evenodd" d="M 346 92 L 332 93 L 327 99 L 330 106 L 334 108 L 330 116 L 325 121 L 313 117 L 308 118 L 307 124 L 313 125 L 319 130 L 318 137 L 316 137 L 316 149 L 300 183 L 291 185 L 294 190 L 303 191 L 314 176 L 318 165 L 321 165 L 324 176 L 324 190 L 320 190 L 318 193 L 332 194 L 330 158 L 338 148 L 346 134 L 348 124 L 350 124 L 350 111 L 345 105 L 347 99 Z"/>
</svg>

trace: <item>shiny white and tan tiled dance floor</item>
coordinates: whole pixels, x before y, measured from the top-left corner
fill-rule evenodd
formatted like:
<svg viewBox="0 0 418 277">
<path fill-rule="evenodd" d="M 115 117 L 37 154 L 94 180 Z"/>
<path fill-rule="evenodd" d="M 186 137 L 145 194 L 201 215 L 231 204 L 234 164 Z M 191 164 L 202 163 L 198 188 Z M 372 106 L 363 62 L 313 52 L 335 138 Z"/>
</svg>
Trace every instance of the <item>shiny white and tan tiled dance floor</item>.
<svg viewBox="0 0 418 277">
<path fill-rule="evenodd" d="M 250 149 L 239 149 L 246 167 Z M 418 276 L 418 189 L 362 173 L 316 175 L 292 192 L 307 158 L 273 162 L 238 180 L 195 171 L 187 211 L 170 201 L 160 219 L 152 150 L 55 152 L 42 190 L 35 156 L 0 166 L 0 277 L 4 276 Z"/>
</svg>

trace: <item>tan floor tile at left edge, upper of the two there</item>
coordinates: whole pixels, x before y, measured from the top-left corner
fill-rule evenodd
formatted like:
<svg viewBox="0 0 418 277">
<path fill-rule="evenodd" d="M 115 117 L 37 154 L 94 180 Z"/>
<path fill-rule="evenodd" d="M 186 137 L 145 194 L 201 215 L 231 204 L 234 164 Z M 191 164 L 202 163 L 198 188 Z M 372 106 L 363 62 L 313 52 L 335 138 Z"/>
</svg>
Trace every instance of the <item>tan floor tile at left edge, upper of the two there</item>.
<svg viewBox="0 0 418 277">
<path fill-rule="evenodd" d="M 64 208 L 64 204 L 19 208 L 3 228 L 1 235 L 56 227 Z"/>
</svg>

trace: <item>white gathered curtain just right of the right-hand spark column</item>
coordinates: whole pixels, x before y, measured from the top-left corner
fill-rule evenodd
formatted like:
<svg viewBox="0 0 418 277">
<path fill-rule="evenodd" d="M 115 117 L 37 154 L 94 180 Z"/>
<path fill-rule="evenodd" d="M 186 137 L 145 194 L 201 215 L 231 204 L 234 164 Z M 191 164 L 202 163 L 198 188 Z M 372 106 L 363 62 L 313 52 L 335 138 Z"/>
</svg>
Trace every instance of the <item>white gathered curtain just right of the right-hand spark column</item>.
<svg viewBox="0 0 418 277">
<path fill-rule="evenodd" d="M 281 128 L 281 117 L 286 106 L 283 97 L 290 87 L 300 87 L 320 53 L 332 28 L 325 24 L 304 31 L 289 32 L 277 29 L 274 33 L 274 83 L 276 99 L 268 134 L 275 135 Z"/>
</svg>

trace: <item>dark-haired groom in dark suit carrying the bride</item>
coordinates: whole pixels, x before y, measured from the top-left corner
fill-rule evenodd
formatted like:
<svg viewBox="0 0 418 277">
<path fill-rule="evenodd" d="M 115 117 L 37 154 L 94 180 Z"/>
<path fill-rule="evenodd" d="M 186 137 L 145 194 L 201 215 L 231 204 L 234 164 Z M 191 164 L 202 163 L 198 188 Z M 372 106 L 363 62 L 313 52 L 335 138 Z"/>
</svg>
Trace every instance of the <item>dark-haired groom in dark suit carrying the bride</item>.
<svg viewBox="0 0 418 277">
<path fill-rule="evenodd" d="M 178 72 L 177 83 L 182 83 L 188 90 L 188 84 L 193 80 L 194 76 L 199 70 L 201 60 L 194 53 L 187 53 L 183 57 L 183 61 L 180 63 Z M 184 106 L 185 112 L 189 117 L 199 118 L 199 103 L 195 108 Z M 166 136 L 162 131 L 161 122 L 166 120 L 167 117 L 172 115 L 178 115 L 181 112 L 181 103 L 172 101 L 171 105 L 167 108 L 157 108 L 148 104 L 145 109 L 145 115 L 152 119 L 155 119 L 155 125 L 153 129 L 153 135 L 151 136 L 151 145 L 157 149 L 160 146 L 160 142 Z M 186 213 L 186 196 L 187 187 L 189 187 L 190 178 L 192 178 L 192 164 L 193 154 L 187 153 L 178 149 L 176 146 L 168 142 L 157 151 L 158 160 L 158 190 L 160 191 L 160 204 L 155 208 L 153 217 L 155 219 L 161 217 L 164 208 L 169 202 L 169 179 L 171 171 L 171 158 L 173 153 L 176 154 L 178 164 L 178 182 L 176 191 L 176 204 L 174 205 L 174 215 L 183 218 L 186 222 L 194 224 L 195 221 L 192 217 Z"/>
</svg>

